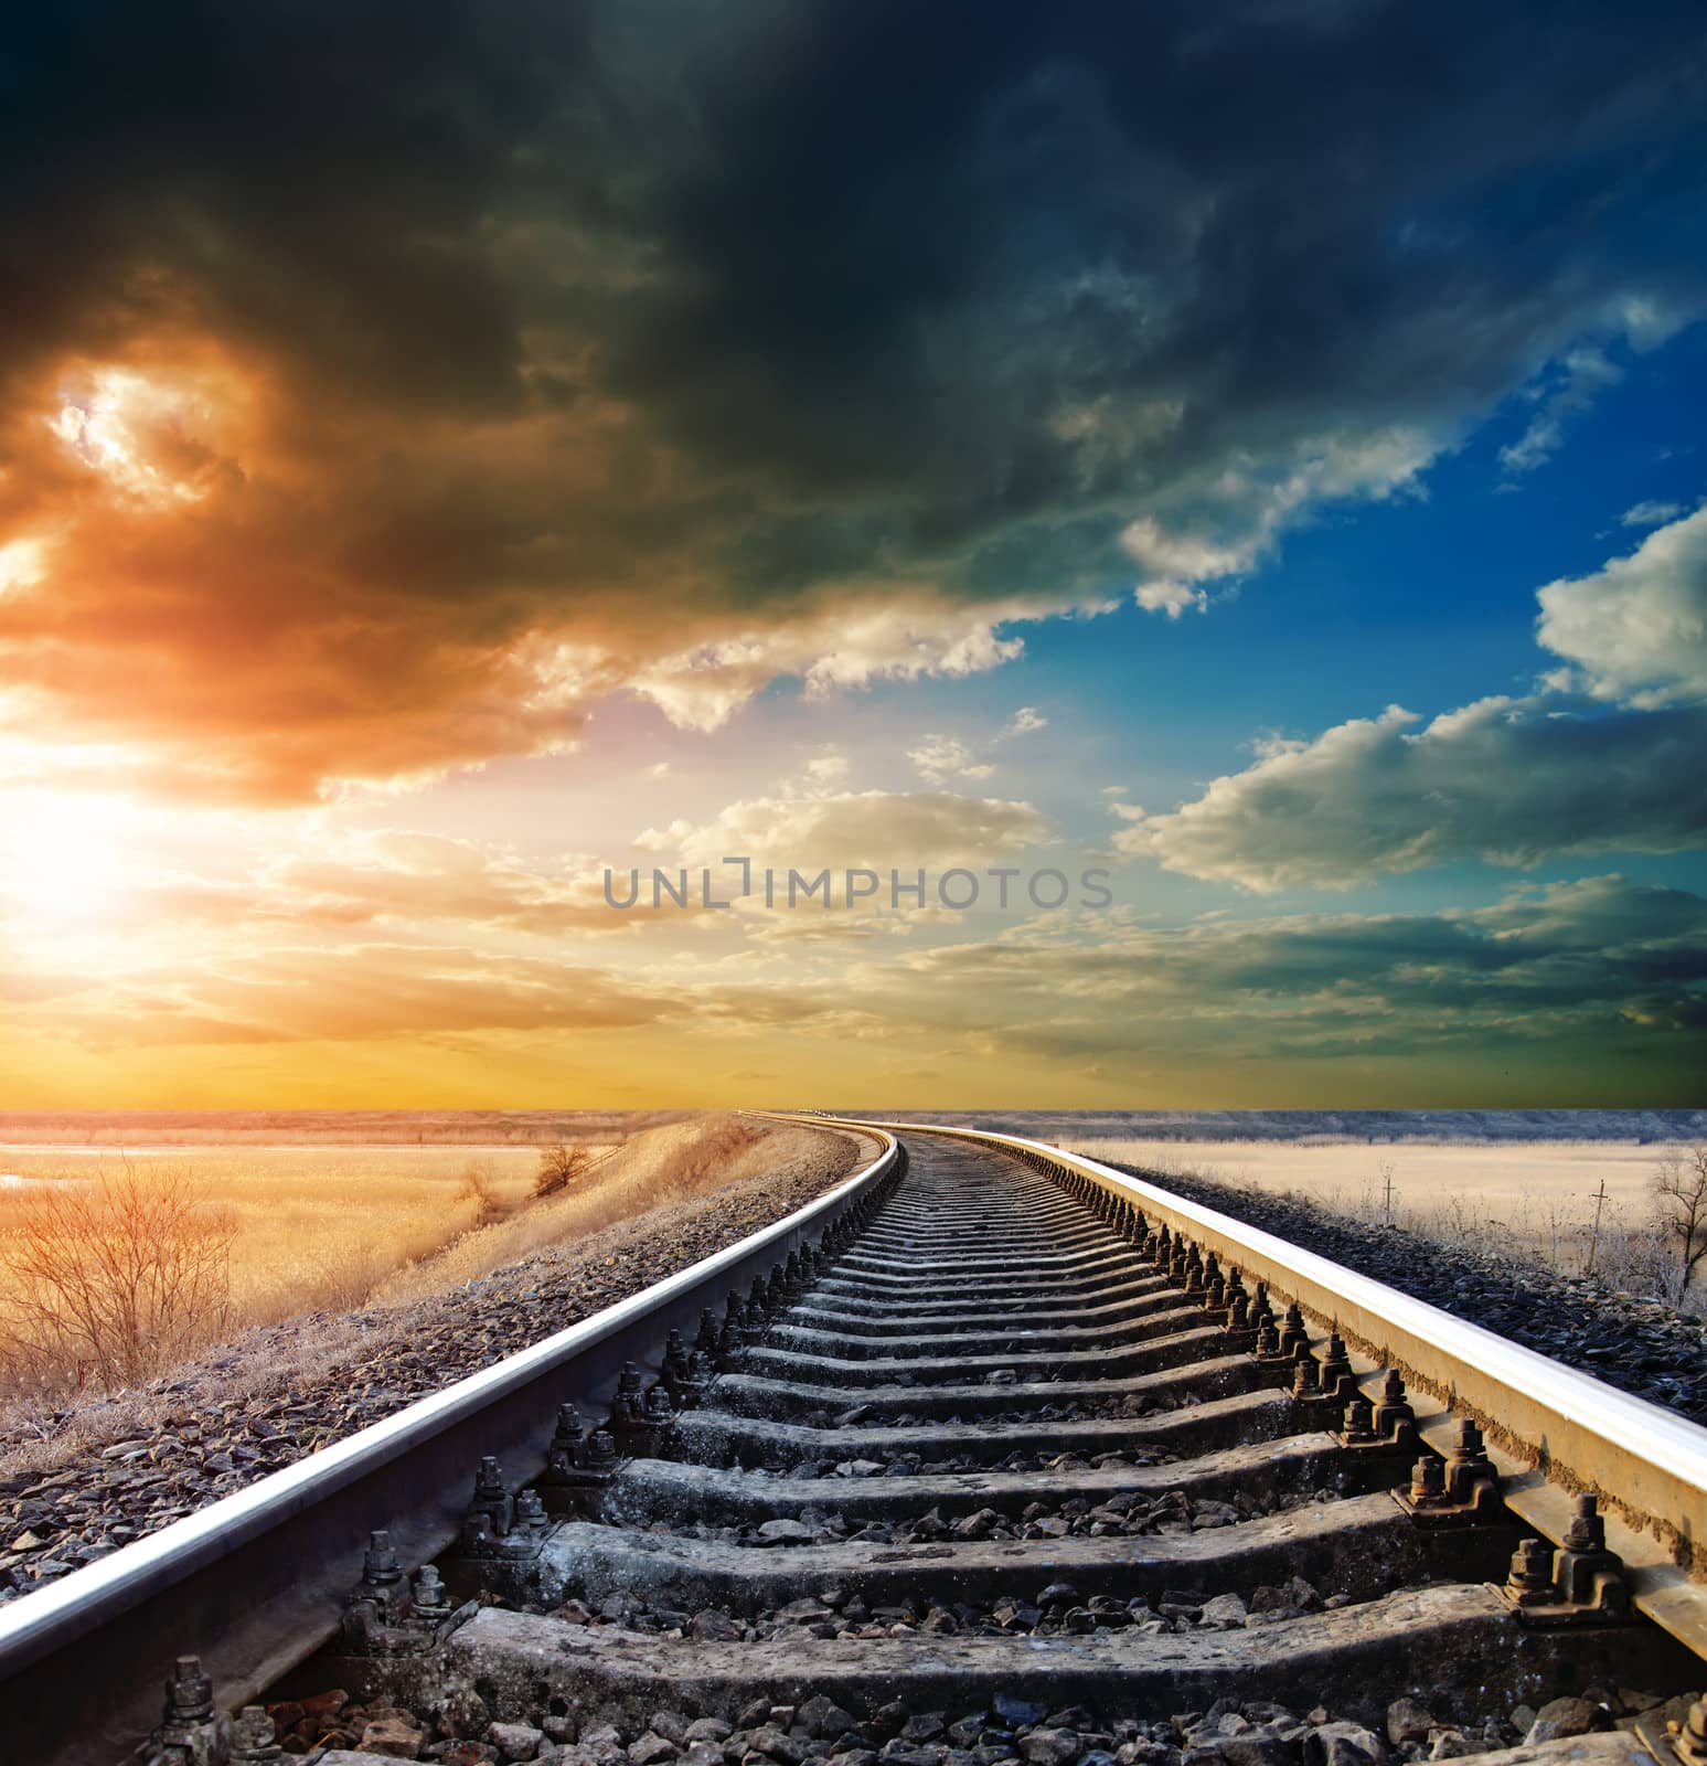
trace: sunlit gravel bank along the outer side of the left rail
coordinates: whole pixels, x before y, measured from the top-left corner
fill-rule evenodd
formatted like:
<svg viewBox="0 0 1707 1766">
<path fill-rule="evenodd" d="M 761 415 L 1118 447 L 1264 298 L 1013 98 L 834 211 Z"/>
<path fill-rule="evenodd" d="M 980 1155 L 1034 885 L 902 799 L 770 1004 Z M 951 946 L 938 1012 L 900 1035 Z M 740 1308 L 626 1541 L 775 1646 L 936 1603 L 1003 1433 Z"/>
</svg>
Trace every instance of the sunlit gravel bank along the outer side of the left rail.
<svg viewBox="0 0 1707 1766">
<path fill-rule="evenodd" d="M 408 1307 L 252 1330 L 139 1393 L 0 1434 L 0 1602 L 94 1563 L 800 1208 L 860 1158 L 660 1208 Z"/>
</svg>

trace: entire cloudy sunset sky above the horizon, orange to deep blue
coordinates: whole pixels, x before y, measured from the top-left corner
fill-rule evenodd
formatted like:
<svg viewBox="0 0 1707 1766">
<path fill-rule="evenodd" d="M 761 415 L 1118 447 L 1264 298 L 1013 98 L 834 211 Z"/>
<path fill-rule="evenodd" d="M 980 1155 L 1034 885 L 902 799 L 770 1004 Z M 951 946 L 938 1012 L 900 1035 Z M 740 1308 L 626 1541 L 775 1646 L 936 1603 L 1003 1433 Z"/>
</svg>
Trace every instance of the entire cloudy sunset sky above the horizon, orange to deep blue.
<svg viewBox="0 0 1707 1766">
<path fill-rule="evenodd" d="M 1703 118 L 1696 5 L 12 18 L 0 1107 L 1707 1102 Z"/>
</svg>

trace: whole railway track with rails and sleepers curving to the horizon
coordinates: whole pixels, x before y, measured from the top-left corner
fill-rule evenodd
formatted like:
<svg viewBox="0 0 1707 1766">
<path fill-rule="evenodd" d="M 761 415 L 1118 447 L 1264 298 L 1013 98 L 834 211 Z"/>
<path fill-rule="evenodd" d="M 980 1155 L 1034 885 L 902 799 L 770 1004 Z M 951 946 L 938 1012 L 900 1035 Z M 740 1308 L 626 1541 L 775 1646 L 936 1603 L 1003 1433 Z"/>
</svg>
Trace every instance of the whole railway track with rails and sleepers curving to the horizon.
<svg viewBox="0 0 1707 1766">
<path fill-rule="evenodd" d="M 14 1602 L 0 1757 L 125 1757 L 171 1672 L 161 1766 L 1707 1762 L 1707 1430 L 1089 1160 L 883 1139 Z"/>
</svg>

